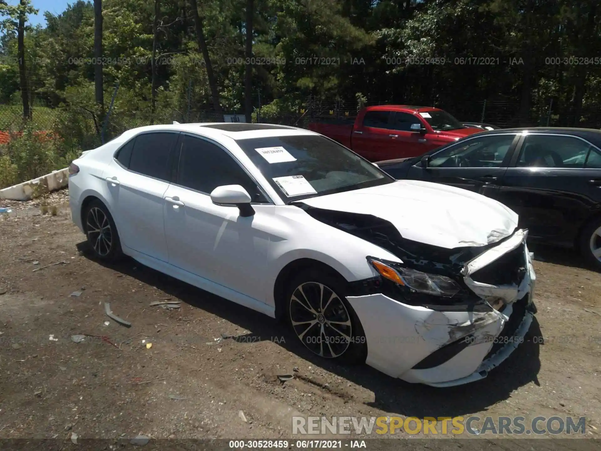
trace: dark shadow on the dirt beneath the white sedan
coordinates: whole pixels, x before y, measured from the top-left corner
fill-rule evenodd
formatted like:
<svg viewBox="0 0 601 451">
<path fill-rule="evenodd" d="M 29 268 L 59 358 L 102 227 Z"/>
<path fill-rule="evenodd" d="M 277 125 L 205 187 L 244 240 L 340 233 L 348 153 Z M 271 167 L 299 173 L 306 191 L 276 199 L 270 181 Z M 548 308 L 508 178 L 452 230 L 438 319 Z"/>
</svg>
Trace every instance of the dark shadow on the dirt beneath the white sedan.
<svg viewBox="0 0 601 451">
<path fill-rule="evenodd" d="M 78 248 L 85 256 L 92 259 L 87 242 L 78 244 Z M 501 366 L 492 370 L 487 378 L 458 387 L 433 388 L 391 378 L 367 365 L 343 366 L 320 358 L 308 351 L 281 322 L 276 322 L 257 311 L 154 271 L 132 259 L 126 258 L 116 264 L 94 261 L 113 271 L 129 275 L 142 283 L 157 287 L 169 296 L 174 296 L 193 307 L 201 308 L 250 331 L 248 334 L 230 339 L 252 343 L 283 336 L 284 340 L 279 339 L 274 342 L 317 367 L 373 391 L 373 402 L 366 404 L 391 415 L 398 414 L 406 417 L 462 416 L 487 410 L 491 405 L 508 399 L 511 393 L 522 385 L 530 382 L 540 385 L 537 375 L 540 370 L 539 346 L 541 343 L 538 339 L 532 339 L 532 337 L 542 337 L 536 319 L 532 322 L 525 342 Z M 289 372 L 291 370 L 291 368 L 288 369 Z M 302 376 L 302 370 L 298 375 Z M 338 387 L 335 381 L 319 382 L 315 378 L 313 380 L 305 378 L 304 380 L 322 387 L 327 382 L 327 390 L 333 394 L 349 396 L 346 382 Z"/>
</svg>

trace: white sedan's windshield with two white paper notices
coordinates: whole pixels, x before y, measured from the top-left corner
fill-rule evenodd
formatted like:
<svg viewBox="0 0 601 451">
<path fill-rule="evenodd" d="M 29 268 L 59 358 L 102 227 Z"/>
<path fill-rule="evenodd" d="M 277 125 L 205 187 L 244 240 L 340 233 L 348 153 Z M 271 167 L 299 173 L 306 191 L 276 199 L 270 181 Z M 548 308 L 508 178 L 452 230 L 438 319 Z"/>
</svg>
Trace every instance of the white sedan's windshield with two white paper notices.
<svg viewBox="0 0 601 451">
<path fill-rule="evenodd" d="M 367 160 L 325 137 L 294 135 L 236 143 L 284 200 L 394 182 Z"/>
</svg>

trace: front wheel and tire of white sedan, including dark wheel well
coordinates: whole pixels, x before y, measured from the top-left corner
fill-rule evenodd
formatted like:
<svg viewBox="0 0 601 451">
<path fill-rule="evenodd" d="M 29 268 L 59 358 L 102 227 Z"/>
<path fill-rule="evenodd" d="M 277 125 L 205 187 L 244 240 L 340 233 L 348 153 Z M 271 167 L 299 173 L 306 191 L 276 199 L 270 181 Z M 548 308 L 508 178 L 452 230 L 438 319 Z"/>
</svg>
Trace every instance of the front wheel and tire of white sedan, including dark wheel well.
<svg viewBox="0 0 601 451">
<path fill-rule="evenodd" d="M 344 298 L 340 276 L 310 269 L 288 281 L 286 318 L 294 335 L 313 354 L 364 363 L 367 342 L 361 322 Z"/>
</svg>

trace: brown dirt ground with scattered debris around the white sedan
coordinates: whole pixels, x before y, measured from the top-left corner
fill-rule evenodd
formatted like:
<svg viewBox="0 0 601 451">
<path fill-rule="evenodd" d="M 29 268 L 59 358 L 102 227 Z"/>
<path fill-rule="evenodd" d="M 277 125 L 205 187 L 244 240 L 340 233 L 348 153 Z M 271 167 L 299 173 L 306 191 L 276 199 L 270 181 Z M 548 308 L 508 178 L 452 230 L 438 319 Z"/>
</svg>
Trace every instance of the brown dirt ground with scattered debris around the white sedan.
<svg viewBox="0 0 601 451">
<path fill-rule="evenodd" d="M 436 389 L 320 360 L 272 319 L 133 260 L 90 259 L 66 191 L 1 206 L 0 438 L 290 439 L 294 415 L 584 416 L 601 438 L 601 274 L 570 251 L 534 248 L 526 342 L 483 381 Z"/>
</svg>

